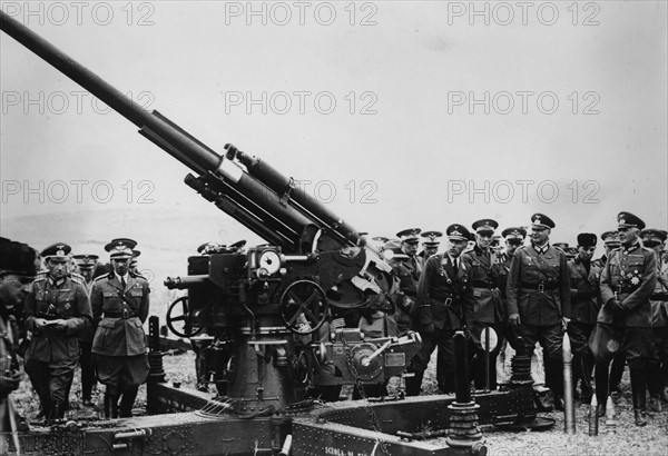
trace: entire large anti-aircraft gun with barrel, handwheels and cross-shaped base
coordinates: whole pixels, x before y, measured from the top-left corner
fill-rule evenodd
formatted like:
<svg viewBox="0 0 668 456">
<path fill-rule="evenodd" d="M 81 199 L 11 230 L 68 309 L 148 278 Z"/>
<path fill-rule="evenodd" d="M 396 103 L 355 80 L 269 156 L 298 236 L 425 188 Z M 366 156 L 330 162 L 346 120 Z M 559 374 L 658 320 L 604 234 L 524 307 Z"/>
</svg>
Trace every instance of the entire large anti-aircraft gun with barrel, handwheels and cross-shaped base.
<svg viewBox="0 0 668 456">
<path fill-rule="evenodd" d="M 478 395 L 478 405 L 463 394 L 315 409 L 307 399 L 327 388 L 348 384 L 363 394 L 365 385 L 402 375 L 420 347 L 414 334 L 370 337 L 350 324 L 360 313 L 392 309 L 395 281 L 379 252 L 261 159 L 232 145 L 216 153 L 4 12 L 0 28 L 139 127 L 197 174 L 186 176 L 189 187 L 269 242 L 247 252 L 230 248 L 190 257 L 188 276 L 165 281 L 188 290 L 169 307 L 167 324 L 203 348 L 204 368 L 220 396 L 166 383 L 158 321 L 151 319 L 147 408 L 153 415 L 20 433 L 23 454 L 484 454 L 478 422 L 534 419 L 531 383 L 520 374 L 513 390 Z M 335 327 L 337 316 L 348 325 Z M 177 329 L 178 321 L 184 329 Z M 515 359 L 520 366 L 530 358 Z M 468 385 L 466 369 L 460 371 L 458 381 Z M 438 430 L 451 422 L 456 424 L 448 447 L 411 440 L 428 425 Z M 10 454 L 18 453 L 11 438 L 4 440 L 0 444 Z"/>
</svg>

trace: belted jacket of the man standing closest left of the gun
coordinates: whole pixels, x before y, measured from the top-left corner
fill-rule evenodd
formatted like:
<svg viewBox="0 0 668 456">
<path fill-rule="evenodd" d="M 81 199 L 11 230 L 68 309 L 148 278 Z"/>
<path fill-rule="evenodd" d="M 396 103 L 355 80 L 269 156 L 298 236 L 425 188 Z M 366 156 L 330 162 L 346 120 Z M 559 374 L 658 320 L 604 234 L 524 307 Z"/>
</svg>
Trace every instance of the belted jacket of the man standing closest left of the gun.
<svg viewBox="0 0 668 456">
<path fill-rule="evenodd" d="M 105 356 L 135 356 L 146 353 L 144 321 L 148 317 L 148 281 L 129 272 L 126 287 L 114 272 L 92 284 L 92 317 L 99 321 L 91 351 Z"/>
</svg>

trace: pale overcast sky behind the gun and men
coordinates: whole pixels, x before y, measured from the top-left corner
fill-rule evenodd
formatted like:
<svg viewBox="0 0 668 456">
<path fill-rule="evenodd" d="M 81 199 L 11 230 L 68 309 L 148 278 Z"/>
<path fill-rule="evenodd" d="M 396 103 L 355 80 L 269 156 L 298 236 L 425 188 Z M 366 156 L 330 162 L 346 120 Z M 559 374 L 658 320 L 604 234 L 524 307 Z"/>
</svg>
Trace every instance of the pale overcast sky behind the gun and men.
<svg viewBox="0 0 668 456">
<path fill-rule="evenodd" d="M 665 1 L 0 8 L 372 236 L 481 218 L 527 226 L 533 212 L 571 245 L 615 229 L 619 211 L 668 227 Z M 4 33 L 0 62 L 2 236 L 76 244 L 132 235 L 137 219 L 149 245 L 261 241 L 185 186 L 184 165 Z M 150 221 L 164 214 L 199 225 L 170 238 L 174 224 Z"/>
</svg>

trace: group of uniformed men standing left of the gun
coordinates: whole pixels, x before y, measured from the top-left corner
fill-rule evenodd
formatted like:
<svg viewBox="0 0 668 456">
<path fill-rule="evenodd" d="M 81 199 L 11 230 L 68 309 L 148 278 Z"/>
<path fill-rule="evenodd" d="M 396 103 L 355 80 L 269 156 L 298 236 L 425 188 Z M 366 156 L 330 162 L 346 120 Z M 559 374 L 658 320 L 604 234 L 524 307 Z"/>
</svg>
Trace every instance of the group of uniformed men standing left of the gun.
<svg viewBox="0 0 668 456">
<path fill-rule="evenodd" d="M 136 269 L 136 245 L 114 239 L 105 247 L 110 264 L 102 265 L 96 255 L 72 256 L 65 242 L 38 252 L 0 238 L 2 430 L 14 414 L 9 394 L 21 380 L 20 358 L 47 423 L 65 417 L 78 363 L 82 404 L 92 406 L 99 381 L 106 386 L 105 417 L 131 416 L 149 370 L 143 327 L 149 287 Z"/>
</svg>

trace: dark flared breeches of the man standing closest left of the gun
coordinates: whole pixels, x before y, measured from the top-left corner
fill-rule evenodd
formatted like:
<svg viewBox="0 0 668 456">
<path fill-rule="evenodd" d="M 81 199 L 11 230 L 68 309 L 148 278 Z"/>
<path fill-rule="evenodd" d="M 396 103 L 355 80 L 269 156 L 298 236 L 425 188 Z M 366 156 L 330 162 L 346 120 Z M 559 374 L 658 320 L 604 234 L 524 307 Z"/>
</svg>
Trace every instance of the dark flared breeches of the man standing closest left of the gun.
<svg viewBox="0 0 668 456">
<path fill-rule="evenodd" d="M 136 388 L 148 377 L 148 357 L 95 355 L 98 381 L 106 385 L 111 394 L 122 394 L 128 388 Z"/>
</svg>

